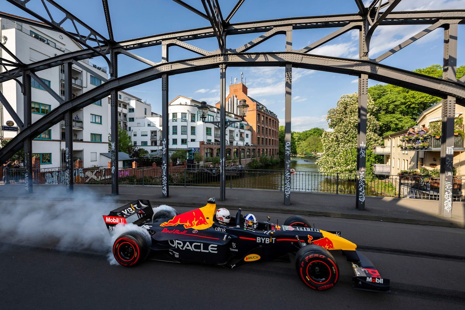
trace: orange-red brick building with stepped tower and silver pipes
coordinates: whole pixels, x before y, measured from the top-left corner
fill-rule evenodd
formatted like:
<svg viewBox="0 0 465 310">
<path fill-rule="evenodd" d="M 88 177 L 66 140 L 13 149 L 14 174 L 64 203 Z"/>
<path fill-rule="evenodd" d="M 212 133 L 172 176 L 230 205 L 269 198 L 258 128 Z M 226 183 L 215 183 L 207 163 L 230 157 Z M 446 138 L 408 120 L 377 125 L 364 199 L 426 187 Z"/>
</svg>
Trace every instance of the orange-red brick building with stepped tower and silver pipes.
<svg viewBox="0 0 465 310">
<path fill-rule="evenodd" d="M 249 97 L 247 86 L 242 82 L 229 86 L 229 95 L 226 97 L 226 112 L 236 114 L 239 117 L 237 106 L 241 99 L 245 99 L 249 105 L 245 119 L 252 126 L 252 143 L 256 143 L 257 157 L 265 153 L 266 156 L 278 158 L 279 120 L 277 115 L 257 100 Z M 219 108 L 219 102 L 216 107 Z"/>
</svg>

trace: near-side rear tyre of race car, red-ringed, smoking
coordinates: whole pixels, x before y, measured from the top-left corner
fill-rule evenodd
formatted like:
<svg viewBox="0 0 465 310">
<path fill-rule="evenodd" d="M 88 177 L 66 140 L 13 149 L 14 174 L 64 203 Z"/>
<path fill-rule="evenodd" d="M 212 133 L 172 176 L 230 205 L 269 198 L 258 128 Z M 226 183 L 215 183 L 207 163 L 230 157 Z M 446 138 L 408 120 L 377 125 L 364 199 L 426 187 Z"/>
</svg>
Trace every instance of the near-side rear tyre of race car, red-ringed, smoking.
<svg viewBox="0 0 465 310">
<path fill-rule="evenodd" d="M 123 266 L 132 267 L 146 259 L 149 252 L 146 239 L 136 231 L 128 231 L 116 238 L 113 256 Z"/>
</svg>

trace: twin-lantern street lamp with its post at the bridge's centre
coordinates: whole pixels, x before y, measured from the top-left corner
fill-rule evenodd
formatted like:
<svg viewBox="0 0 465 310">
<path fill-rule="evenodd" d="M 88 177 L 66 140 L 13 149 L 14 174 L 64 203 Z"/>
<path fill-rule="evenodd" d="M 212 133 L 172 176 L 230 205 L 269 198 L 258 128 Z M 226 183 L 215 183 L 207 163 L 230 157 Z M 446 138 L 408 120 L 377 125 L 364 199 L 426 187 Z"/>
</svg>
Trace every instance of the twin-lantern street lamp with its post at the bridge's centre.
<svg viewBox="0 0 465 310">
<path fill-rule="evenodd" d="M 240 120 L 227 120 L 226 121 L 226 126 L 225 128 L 229 127 L 230 125 L 234 123 L 240 123 L 244 121 L 244 117 L 247 115 L 247 109 L 249 106 L 246 103 L 245 99 L 241 99 L 239 101 L 239 105 L 237 106 L 239 115 L 241 116 Z M 221 130 L 221 123 L 220 121 L 206 121 L 206 117 L 208 114 L 208 106 L 206 105 L 205 101 L 202 101 L 200 103 L 200 106 L 198 107 L 202 115 L 200 118 L 202 119 L 202 122 L 208 123 L 208 124 L 213 124 L 216 127 L 218 127 Z M 220 154 L 226 154 L 226 140 L 225 140 L 225 132 L 220 132 L 219 134 L 219 148 L 220 148 Z M 225 168 L 226 168 L 226 158 L 219 158 L 219 174 L 220 174 L 220 179 L 219 179 L 219 191 L 220 191 L 220 200 L 224 201 L 225 200 L 225 192 L 226 192 L 226 179 L 225 179 Z"/>
</svg>

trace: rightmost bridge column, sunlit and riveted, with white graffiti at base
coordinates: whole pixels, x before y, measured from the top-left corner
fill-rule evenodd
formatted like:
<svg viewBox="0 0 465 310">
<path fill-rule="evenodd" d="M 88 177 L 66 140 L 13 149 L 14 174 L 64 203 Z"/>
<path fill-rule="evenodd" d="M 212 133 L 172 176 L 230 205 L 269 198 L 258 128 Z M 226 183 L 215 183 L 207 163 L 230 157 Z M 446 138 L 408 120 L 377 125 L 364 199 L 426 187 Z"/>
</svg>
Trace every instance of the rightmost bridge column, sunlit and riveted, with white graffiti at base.
<svg viewBox="0 0 465 310">
<path fill-rule="evenodd" d="M 457 24 L 444 28 L 444 65 L 442 78 L 457 78 Z M 439 178 L 439 215 L 452 217 L 455 101 L 452 96 L 442 100 L 441 169 Z"/>
</svg>

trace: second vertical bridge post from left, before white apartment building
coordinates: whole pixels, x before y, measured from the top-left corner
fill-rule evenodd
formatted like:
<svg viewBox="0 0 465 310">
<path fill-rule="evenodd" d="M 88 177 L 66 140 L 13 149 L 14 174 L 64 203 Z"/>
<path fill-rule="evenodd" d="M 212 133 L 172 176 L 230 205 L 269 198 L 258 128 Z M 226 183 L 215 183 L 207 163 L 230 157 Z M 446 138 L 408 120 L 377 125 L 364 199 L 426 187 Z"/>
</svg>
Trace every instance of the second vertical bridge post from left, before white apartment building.
<svg viewBox="0 0 465 310">
<path fill-rule="evenodd" d="M 63 65 L 65 67 L 65 101 L 73 98 L 72 86 L 72 62 L 67 62 Z M 73 112 L 65 112 L 65 185 L 66 191 L 73 192 L 74 178 L 73 178 Z"/>
</svg>

